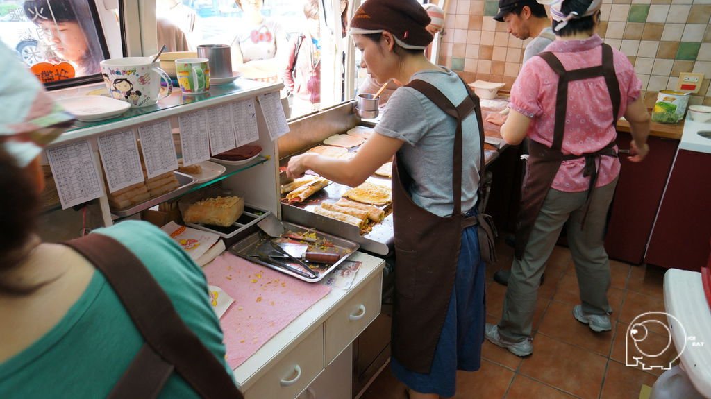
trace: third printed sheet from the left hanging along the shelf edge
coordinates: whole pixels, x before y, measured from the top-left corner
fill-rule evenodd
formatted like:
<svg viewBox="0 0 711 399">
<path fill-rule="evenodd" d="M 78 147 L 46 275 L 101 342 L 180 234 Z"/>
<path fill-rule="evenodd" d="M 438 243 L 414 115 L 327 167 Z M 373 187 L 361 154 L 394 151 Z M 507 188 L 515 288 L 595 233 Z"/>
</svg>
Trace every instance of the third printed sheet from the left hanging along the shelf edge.
<svg viewBox="0 0 711 399">
<path fill-rule="evenodd" d="M 138 132 L 149 179 L 178 169 L 178 155 L 169 121 L 140 126 Z"/>
</svg>

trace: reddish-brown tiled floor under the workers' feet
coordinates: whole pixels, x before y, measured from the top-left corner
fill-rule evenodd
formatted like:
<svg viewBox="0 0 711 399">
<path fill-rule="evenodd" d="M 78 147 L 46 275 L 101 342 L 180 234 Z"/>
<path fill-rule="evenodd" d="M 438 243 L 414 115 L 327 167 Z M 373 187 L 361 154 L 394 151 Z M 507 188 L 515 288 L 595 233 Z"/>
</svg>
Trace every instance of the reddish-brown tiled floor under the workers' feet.
<svg viewBox="0 0 711 399">
<path fill-rule="evenodd" d="M 498 268 L 510 268 L 513 251 L 501 242 L 499 263 L 487 270 L 487 321 L 501 317 L 506 287 L 491 280 Z M 663 275 L 653 266 L 630 266 L 611 261 L 612 283 L 608 293 L 614 313 L 611 332 L 596 334 L 572 317 L 579 291 L 570 251 L 558 246 L 538 291 L 533 329 L 534 351 L 521 359 L 486 341 L 482 366 L 473 373 L 457 374 L 454 398 L 508 399 L 637 399 L 641 386 L 651 386 L 659 372 L 625 366 L 626 332 L 634 317 L 663 310 Z M 666 337 L 653 334 L 652 346 L 663 347 Z M 653 352 L 648 352 L 653 353 Z M 675 354 L 669 354 L 673 359 Z M 387 366 L 362 399 L 405 399 L 405 386 Z"/>
</svg>

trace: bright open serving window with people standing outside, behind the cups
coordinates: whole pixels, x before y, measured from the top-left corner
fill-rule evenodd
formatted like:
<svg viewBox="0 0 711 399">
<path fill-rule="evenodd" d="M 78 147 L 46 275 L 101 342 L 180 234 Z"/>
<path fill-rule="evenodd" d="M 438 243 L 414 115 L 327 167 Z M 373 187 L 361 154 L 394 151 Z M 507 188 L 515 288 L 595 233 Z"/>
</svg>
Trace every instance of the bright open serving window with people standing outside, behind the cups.
<svg viewBox="0 0 711 399">
<path fill-rule="evenodd" d="M 321 52 L 333 51 L 334 46 L 321 47 L 324 13 L 319 4 L 321 0 L 156 0 L 156 18 L 159 30 L 161 20 L 169 19 L 188 38 L 188 48 L 170 50 L 228 44 L 234 70 L 253 80 L 284 82 L 282 95 L 288 95 L 294 117 L 332 105 L 320 101 L 320 60 L 325 59 Z M 162 40 L 166 41 L 172 40 Z M 338 75 L 331 90 L 342 87 Z"/>
</svg>

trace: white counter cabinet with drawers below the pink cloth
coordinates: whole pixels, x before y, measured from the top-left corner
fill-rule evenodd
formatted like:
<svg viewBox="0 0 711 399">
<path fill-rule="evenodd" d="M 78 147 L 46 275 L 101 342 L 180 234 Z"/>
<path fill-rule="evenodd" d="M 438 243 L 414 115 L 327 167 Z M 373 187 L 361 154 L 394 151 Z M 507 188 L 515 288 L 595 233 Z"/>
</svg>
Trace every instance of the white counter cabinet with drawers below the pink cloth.
<svg viewBox="0 0 711 399">
<path fill-rule="evenodd" d="M 385 261 L 360 252 L 351 260 L 363 265 L 349 290 L 333 288 L 235 368 L 235 380 L 246 399 L 296 398 L 334 361 L 338 363 L 338 355 L 351 348 L 353 339 L 380 314 Z M 350 387 L 348 364 L 348 373 L 338 377 Z"/>
</svg>

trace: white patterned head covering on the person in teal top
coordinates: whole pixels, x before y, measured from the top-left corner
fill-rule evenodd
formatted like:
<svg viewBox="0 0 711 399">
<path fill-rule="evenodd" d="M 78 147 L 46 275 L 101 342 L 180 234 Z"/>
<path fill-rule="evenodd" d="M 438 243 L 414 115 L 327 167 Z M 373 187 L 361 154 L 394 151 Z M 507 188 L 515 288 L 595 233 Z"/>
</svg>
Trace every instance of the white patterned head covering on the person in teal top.
<svg viewBox="0 0 711 399">
<path fill-rule="evenodd" d="M 47 94 L 16 53 L 0 43 L 0 145 L 28 165 L 73 120 Z"/>
</svg>

